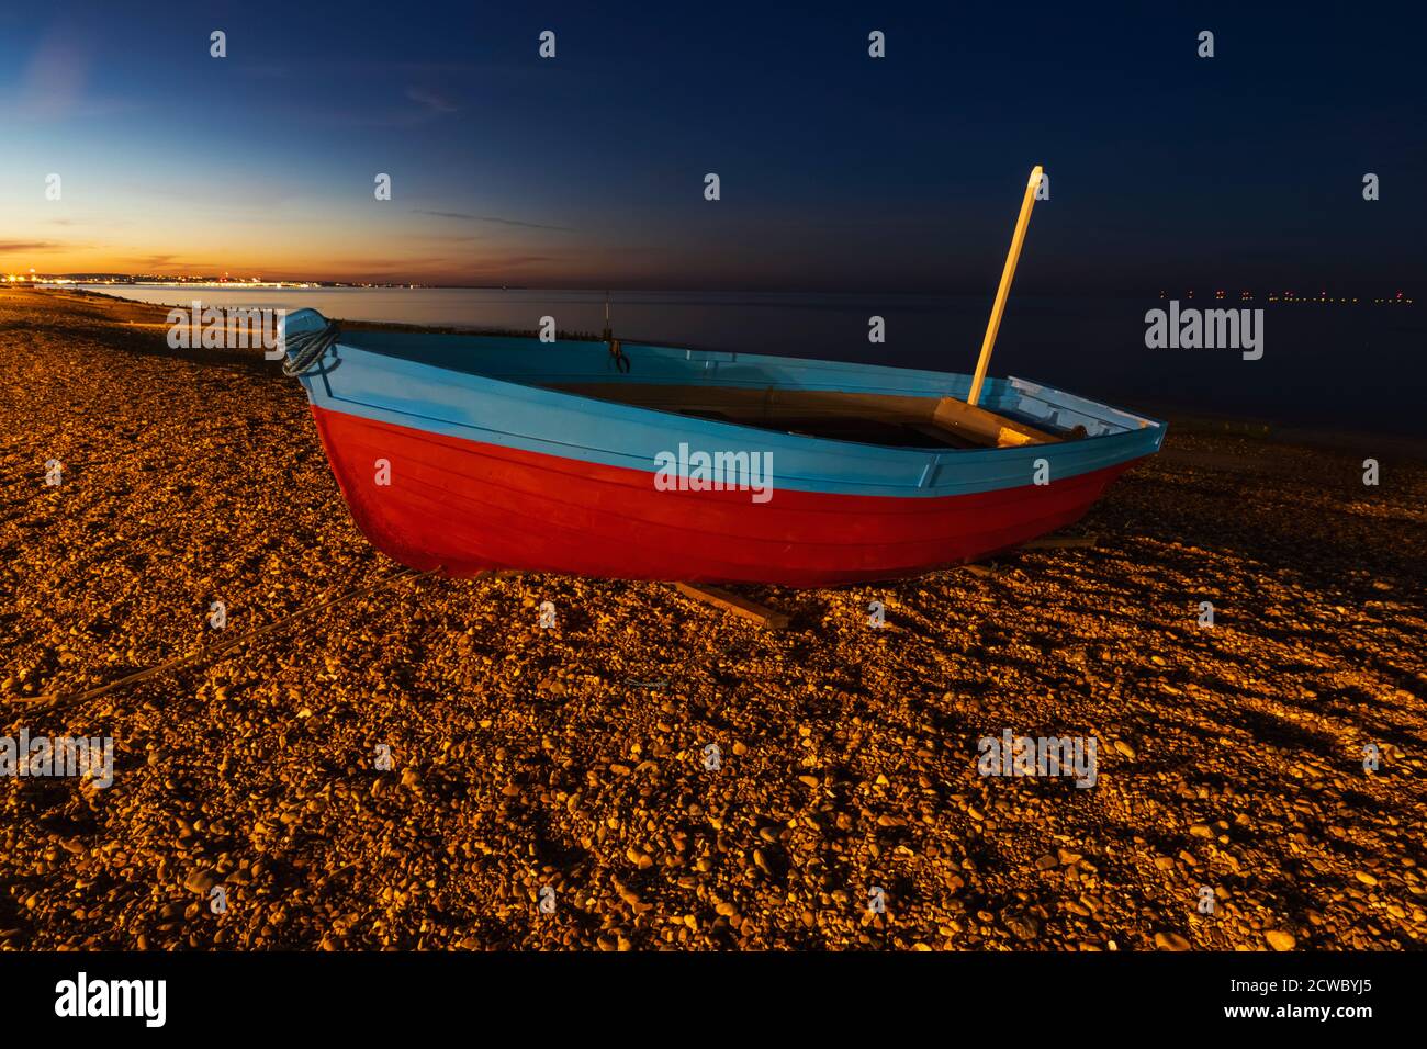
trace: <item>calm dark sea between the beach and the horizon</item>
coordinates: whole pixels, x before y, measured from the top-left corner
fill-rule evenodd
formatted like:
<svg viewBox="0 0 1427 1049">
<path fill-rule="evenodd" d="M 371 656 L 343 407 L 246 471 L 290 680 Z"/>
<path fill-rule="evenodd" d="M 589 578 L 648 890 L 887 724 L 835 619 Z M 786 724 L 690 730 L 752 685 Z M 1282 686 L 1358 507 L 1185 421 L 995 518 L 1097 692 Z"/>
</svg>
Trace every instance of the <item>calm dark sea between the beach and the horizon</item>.
<svg viewBox="0 0 1427 1049">
<path fill-rule="evenodd" d="M 604 328 L 602 291 L 478 288 L 203 288 L 91 285 L 144 303 L 313 307 L 340 320 L 565 331 Z M 1126 407 L 1251 417 L 1334 430 L 1427 432 L 1427 323 L 1421 305 L 1267 304 L 1264 355 L 1147 350 L 1144 311 L 1157 298 L 1012 295 L 992 374 L 1020 375 Z M 1182 307 L 1213 308 L 1204 300 Z M 1217 304 L 1232 308 L 1236 304 Z M 616 293 L 615 334 L 629 341 L 788 357 L 972 371 L 990 300 L 952 295 Z M 868 318 L 886 343 L 868 341 Z"/>
</svg>

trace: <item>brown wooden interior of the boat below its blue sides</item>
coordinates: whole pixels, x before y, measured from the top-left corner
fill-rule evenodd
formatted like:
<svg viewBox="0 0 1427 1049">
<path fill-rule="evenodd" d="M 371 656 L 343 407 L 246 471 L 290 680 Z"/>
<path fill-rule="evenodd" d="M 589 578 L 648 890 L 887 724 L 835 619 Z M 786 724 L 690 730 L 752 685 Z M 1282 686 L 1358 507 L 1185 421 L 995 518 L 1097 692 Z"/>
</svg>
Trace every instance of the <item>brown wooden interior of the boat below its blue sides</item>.
<svg viewBox="0 0 1427 1049">
<path fill-rule="evenodd" d="M 1032 427 L 953 397 L 644 382 L 552 382 L 581 397 L 759 430 L 893 448 L 1007 448 L 1085 437 Z"/>
</svg>

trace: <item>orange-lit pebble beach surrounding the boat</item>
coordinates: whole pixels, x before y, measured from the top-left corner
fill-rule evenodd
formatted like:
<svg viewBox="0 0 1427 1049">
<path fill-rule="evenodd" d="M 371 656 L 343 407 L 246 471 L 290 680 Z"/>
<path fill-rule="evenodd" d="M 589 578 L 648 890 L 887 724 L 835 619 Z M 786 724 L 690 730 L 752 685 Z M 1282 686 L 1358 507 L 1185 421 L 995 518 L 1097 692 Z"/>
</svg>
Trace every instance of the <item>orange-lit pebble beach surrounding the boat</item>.
<svg viewBox="0 0 1427 1049">
<path fill-rule="evenodd" d="M 1172 418 L 1095 545 L 743 588 L 775 631 L 405 572 L 300 385 L 164 314 L 0 290 L 0 736 L 114 741 L 110 786 L 0 778 L 0 949 L 1427 945 L 1398 444 L 1366 485 L 1371 451 Z M 1093 786 L 982 775 L 1007 731 L 1095 739 Z"/>
</svg>

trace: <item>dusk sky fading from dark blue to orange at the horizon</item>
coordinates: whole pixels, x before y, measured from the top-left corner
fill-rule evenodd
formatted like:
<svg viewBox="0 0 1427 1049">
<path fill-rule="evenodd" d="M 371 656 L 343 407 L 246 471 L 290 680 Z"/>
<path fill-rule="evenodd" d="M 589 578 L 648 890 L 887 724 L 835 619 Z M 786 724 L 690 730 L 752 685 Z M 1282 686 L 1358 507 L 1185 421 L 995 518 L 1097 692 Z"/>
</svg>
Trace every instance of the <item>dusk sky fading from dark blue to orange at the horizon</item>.
<svg viewBox="0 0 1427 1049">
<path fill-rule="evenodd" d="M 1427 270 L 1421 7 L 207 7 L 0 14 L 0 270 L 982 293 L 1036 163 L 1027 294 Z"/>
</svg>

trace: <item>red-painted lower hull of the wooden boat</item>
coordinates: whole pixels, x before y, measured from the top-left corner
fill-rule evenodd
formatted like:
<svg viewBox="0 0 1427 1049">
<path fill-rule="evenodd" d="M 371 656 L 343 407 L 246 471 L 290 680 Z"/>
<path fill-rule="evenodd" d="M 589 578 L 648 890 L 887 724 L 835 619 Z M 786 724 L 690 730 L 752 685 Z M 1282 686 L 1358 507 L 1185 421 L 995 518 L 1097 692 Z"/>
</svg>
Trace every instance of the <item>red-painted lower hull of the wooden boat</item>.
<svg viewBox="0 0 1427 1049">
<path fill-rule="evenodd" d="M 357 525 L 420 571 L 829 587 L 919 575 L 1079 520 L 1132 462 L 1047 485 L 890 498 L 658 491 L 654 472 L 313 407 Z M 385 460 L 388 484 L 378 484 Z"/>
</svg>

